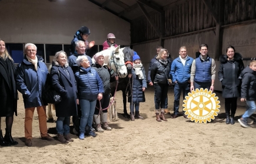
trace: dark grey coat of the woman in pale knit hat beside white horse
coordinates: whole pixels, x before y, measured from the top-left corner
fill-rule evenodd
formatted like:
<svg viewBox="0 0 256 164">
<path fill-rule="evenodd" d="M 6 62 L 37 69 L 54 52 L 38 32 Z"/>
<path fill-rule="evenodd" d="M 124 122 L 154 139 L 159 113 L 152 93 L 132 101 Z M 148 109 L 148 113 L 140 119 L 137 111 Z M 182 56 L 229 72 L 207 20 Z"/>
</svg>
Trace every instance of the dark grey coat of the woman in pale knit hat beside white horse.
<svg viewBox="0 0 256 164">
<path fill-rule="evenodd" d="M 92 64 L 92 69 L 95 69 L 102 80 L 104 94 L 110 94 L 110 73 L 107 66 L 101 66 L 98 63 Z"/>
</svg>

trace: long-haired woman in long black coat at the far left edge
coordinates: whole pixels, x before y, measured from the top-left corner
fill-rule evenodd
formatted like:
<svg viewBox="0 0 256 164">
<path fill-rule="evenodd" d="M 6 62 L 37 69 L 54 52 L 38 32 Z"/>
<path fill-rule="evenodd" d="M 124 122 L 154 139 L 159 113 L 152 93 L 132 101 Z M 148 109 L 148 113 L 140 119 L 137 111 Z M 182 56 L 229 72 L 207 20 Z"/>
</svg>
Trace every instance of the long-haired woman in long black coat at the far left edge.
<svg viewBox="0 0 256 164">
<path fill-rule="evenodd" d="M 0 130 L 1 146 L 18 144 L 11 135 L 14 113 L 17 115 L 17 98 L 14 60 L 5 49 L 4 40 L 0 39 L 0 129 L 1 117 L 5 117 L 6 122 L 5 137 Z"/>
</svg>

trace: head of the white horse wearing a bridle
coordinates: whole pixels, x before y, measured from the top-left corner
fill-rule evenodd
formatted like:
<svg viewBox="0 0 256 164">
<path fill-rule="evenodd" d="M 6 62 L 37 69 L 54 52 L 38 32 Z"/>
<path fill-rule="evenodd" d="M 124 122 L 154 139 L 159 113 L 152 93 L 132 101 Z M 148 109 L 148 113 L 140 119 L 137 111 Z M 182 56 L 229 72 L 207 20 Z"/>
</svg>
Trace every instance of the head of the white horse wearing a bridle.
<svg viewBox="0 0 256 164">
<path fill-rule="evenodd" d="M 112 50 L 109 65 L 116 73 L 118 73 L 119 77 L 124 78 L 127 76 L 127 69 L 124 62 L 124 53 L 120 49 L 120 46 Z"/>
</svg>

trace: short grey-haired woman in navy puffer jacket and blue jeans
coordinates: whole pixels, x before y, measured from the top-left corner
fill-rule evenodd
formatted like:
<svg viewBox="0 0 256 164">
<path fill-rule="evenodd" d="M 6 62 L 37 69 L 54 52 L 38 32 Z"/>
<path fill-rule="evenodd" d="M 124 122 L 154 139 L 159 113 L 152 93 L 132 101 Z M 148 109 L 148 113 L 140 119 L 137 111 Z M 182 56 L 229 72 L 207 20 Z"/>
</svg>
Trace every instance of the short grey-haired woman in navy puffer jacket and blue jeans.
<svg viewBox="0 0 256 164">
<path fill-rule="evenodd" d="M 85 126 L 92 128 L 94 110 L 97 99 L 102 99 L 104 88 L 102 80 L 95 69 L 90 66 L 87 56 L 78 56 L 77 65 L 79 69 L 75 72 L 75 80 L 77 81 L 78 99 L 81 105 L 80 120 L 80 139 L 85 138 Z M 93 131 L 89 131 L 89 135 L 96 136 Z"/>
</svg>

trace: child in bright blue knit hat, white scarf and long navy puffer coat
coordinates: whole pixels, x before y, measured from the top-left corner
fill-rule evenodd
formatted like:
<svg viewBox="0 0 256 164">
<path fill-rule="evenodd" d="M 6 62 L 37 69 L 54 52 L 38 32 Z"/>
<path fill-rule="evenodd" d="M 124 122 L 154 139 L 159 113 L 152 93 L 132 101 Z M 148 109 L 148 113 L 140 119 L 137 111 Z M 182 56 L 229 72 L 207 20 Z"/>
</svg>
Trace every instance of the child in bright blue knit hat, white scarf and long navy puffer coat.
<svg viewBox="0 0 256 164">
<path fill-rule="evenodd" d="M 136 52 L 134 52 L 134 56 L 132 57 L 132 59 L 134 60 L 134 64 L 132 66 L 132 98 L 129 97 L 128 102 L 131 102 L 131 121 L 134 121 L 135 118 L 144 119 L 143 117 L 141 117 L 141 115 L 139 115 L 139 102 L 145 102 L 144 91 L 147 88 L 147 80 L 145 69 L 142 66 L 141 59 Z M 131 89 L 129 89 L 129 94 L 131 94 Z"/>
</svg>

